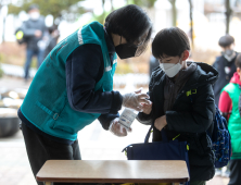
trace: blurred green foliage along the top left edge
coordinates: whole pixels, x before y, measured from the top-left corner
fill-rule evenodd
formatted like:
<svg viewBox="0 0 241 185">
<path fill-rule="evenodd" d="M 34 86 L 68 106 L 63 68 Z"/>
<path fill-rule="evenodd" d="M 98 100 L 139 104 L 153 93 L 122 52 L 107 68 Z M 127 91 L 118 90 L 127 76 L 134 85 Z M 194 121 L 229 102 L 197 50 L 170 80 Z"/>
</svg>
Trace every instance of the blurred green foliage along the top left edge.
<svg viewBox="0 0 241 185">
<path fill-rule="evenodd" d="M 62 17 L 67 21 L 76 21 L 79 15 L 88 12 L 78 2 L 84 0 L 18 0 L 18 3 L 9 5 L 10 14 L 18 14 L 21 11 L 28 11 L 30 4 L 38 4 L 42 15 L 52 14 L 54 18 Z"/>
</svg>

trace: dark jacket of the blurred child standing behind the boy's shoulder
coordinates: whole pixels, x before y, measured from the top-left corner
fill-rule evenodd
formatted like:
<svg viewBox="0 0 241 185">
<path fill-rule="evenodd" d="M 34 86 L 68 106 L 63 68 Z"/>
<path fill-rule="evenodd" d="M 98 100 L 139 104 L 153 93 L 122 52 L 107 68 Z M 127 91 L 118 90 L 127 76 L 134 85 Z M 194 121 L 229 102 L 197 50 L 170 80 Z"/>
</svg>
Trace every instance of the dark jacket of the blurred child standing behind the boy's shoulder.
<svg viewBox="0 0 241 185">
<path fill-rule="evenodd" d="M 219 74 L 219 77 L 214 84 L 214 97 L 215 103 L 217 106 L 219 102 L 221 89 L 230 82 L 231 77 L 233 76 L 233 73 L 237 71 L 236 58 L 228 62 L 228 60 L 224 55 L 220 55 L 216 58 L 216 61 L 213 64 L 213 66 L 218 71 Z M 229 69 L 229 73 L 225 71 L 226 67 Z"/>
</svg>

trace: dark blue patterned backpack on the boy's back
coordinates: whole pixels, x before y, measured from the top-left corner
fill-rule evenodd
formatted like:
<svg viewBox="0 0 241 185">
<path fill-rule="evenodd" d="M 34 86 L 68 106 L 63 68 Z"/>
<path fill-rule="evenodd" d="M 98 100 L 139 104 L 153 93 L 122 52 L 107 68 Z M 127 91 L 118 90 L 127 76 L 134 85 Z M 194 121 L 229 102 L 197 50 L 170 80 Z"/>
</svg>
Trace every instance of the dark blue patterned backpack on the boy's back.
<svg viewBox="0 0 241 185">
<path fill-rule="evenodd" d="M 192 101 L 192 92 L 187 94 Z M 231 158 L 231 137 L 228 131 L 228 124 L 224 116 L 221 116 L 220 110 L 216 107 L 216 113 L 213 121 L 213 133 L 207 133 L 212 140 L 212 150 L 215 155 L 215 168 L 219 169 L 228 164 Z"/>
</svg>

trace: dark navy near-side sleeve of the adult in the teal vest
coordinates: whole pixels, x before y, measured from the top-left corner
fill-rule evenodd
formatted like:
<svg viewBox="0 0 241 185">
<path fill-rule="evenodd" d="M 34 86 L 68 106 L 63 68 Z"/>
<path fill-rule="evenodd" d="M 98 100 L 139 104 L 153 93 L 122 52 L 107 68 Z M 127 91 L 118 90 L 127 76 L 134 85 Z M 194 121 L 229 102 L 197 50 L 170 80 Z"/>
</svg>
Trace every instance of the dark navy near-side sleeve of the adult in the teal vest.
<svg viewBox="0 0 241 185">
<path fill-rule="evenodd" d="M 72 109 L 79 112 L 116 114 L 122 108 L 118 91 L 94 91 L 98 75 L 103 74 L 100 46 L 84 45 L 75 49 L 66 61 L 67 98 Z"/>
</svg>

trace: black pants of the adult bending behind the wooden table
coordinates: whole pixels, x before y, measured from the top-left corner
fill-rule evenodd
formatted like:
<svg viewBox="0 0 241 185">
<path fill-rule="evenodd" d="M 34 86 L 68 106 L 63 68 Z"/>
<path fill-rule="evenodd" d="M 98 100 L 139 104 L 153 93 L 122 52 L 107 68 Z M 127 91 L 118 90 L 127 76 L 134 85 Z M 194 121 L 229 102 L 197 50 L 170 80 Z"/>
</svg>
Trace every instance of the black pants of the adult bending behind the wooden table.
<svg viewBox="0 0 241 185">
<path fill-rule="evenodd" d="M 80 160 L 80 150 L 78 140 L 73 145 L 64 145 L 53 141 L 31 131 L 24 123 L 22 124 L 25 146 L 31 171 L 36 174 L 41 169 L 47 160 Z M 43 185 L 42 182 L 37 182 L 38 185 Z M 71 183 L 54 183 L 54 185 L 73 185 Z"/>
</svg>

